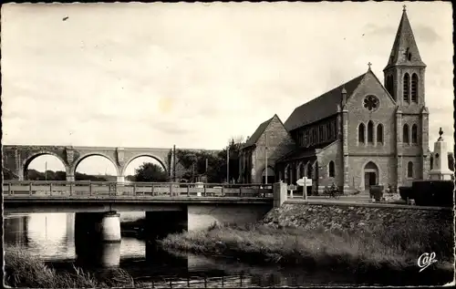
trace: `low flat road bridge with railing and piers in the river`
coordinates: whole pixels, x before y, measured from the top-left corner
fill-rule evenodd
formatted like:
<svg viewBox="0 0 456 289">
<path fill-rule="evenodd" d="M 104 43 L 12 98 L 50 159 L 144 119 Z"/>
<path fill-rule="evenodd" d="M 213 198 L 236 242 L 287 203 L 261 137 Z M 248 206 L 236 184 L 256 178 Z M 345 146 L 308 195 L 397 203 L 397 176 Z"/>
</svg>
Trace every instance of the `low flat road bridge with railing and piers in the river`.
<svg viewBox="0 0 456 289">
<path fill-rule="evenodd" d="M 5 181 L 4 210 L 76 212 L 78 235 L 120 241 L 119 212 L 146 212 L 153 238 L 188 228 L 188 215 L 206 215 L 213 222 L 257 222 L 273 208 L 271 186 L 108 181 Z M 208 224 L 210 225 L 210 224 Z"/>
</svg>

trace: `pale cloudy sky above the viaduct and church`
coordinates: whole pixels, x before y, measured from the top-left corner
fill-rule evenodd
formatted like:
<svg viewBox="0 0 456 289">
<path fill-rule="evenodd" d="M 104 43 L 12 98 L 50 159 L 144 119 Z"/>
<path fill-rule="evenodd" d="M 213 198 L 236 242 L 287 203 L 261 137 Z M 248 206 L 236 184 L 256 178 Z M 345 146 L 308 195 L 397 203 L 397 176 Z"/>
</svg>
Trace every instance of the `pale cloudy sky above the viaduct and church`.
<svg viewBox="0 0 456 289">
<path fill-rule="evenodd" d="M 405 4 L 430 150 L 440 127 L 452 147 L 451 3 Z M 3 143 L 222 149 L 368 62 L 383 81 L 402 5 L 2 5 Z"/>
</svg>

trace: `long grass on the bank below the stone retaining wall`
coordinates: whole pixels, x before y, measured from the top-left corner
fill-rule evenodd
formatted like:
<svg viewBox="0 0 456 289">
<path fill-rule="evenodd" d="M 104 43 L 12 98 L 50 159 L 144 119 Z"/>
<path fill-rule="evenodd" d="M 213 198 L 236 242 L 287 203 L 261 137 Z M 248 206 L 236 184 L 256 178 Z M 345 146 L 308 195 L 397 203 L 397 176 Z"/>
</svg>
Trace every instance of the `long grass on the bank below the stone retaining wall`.
<svg viewBox="0 0 456 289">
<path fill-rule="evenodd" d="M 303 264 L 351 272 L 417 269 L 421 253 L 435 252 L 440 264 L 453 262 L 452 232 L 409 223 L 371 231 L 325 231 L 323 228 L 276 229 L 261 224 L 213 225 L 207 231 L 171 234 L 159 242 L 165 250 L 236 256 L 244 261 Z"/>
</svg>

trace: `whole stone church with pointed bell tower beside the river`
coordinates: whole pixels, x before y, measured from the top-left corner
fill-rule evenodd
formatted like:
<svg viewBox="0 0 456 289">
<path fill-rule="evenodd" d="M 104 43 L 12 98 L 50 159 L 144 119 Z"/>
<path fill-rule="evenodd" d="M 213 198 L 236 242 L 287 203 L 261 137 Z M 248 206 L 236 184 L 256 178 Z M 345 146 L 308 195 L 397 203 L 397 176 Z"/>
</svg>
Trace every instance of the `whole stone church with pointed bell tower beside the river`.
<svg viewBox="0 0 456 289">
<path fill-rule="evenodd" d="M 264 121 L 241 150 L 240 181 L 295 184 L 306 176 L 314 193 L 333 183 L 350 193 L 427 179 L 426 65 L 405 7 L 385 60 L 384 83 L 368 64 L 366 73 L 295 108 L 285 123 L 277 115 Z"/>
</svg>

